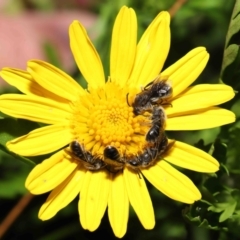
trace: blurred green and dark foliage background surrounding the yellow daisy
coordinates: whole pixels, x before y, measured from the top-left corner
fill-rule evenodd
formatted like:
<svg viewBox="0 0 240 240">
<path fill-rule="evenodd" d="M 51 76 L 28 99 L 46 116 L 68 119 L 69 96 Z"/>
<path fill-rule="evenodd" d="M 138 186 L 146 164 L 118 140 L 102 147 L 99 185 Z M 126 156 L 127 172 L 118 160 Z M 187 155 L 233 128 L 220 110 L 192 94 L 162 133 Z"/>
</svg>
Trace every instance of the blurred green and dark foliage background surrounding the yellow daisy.
<svg viewBox="0 0 240 240">
<path fill-rule="evenodd" d="M 19 48 L 24 50 L 25 54 L 30 48 L 30 43 L 36 40 L 37 45 L 31 48 L 33 52 L 30 53 L 30 57 L 39 57 L 61 67 L 85 86 L 86 83 L 80 76 L 72 57 L 69 57 L 71 52 L 68 45 L 67 30 L 61 33 L 62 35 L 60 34 L 58 39 L 48 37 L 44 41 L 38 41 L 39 38 L 36 38 L 36 34 L 41 33 L 41 36 L 50 36 L 46 29 L 47 25 L 53 22 L 58 24 L 57 27 L 55 26 L 55 31 L 60 31 L 61 24 L 66 25 L 66 21 L 63 22 L 64 14 L 67 14 L 69 23 L 76 19 L 78 14 L 79 16 L 81 15 L 81 19 L 84 19 L 83 21 L 90 19 L 91 23 L 86 23 L 88 24 L 88 31 L 101 56 L 105 72 L 109 73 L 111 31 L 120 7 L 127 5 L 136 11 L 139 37 L 160 11 L 169 10 L 172 14 L 172 36 L 171 49 L 165 67 L 177 61 L 191 49 L 205 46 L 210 53 L 210 60 L 206 69 L 194 84 L 218 83 L 222 80 L 238 91 L 240 88 L 240 61 L 238 53 L 240 38 L 238 31 L 235 32 L 237 34 L 234 34 L 230 40 L 230 44 L 237 45 L 233 51 L 235 53 L 233 60 L 226 69 L 221 71 L 224 49 L 226 47 L 226 34 L 234 4 L 234 0 L 11 0 L 2 1 L 0 12 L 2 13 L 1 18 L 5 19 L 5 26 L 7 26 L 8 30 L 11 29 L 10 24 L 17 24 L 18 18 L 24 17 L 26 22 L 31 21 L 28 19 L 35 19 L 34 21 L 41 22 L 42 20 L 37 18 L 39 16 L 43 19 L 47 18 L 46 25 L 34 25 L 33 28 L 35 28 L 36 32 L 30 31 L 32 35 L 29 33 L 27 38 L 29 43 L 24 46 L 25 48 L 23 45 L 19 46 Z M 238 16 L 238 13 L 236 16 Z M 16 19 L 16 22 L 12 21 L 12 19 Z M 3 25 L 0 25 L 0 28 L 1 26 Z M 19 31 L 25 31 L 24 26 L 22 26 L 22 29 L 21 26 L 19 27 Z M 42 31 L 43 29 L 46 31 Z M 5 32 L 2 29 L 0 30 L 0 34 L 3 36 Z M 54 28 L 48 29 L 48 31 L 54 31 Z M 1 37 L 1 39 L 0 41 L 4 41 L 4 38 Z M 12 40 L 15 41 L 15 47 L 20 44 L 16 39 Z M 59 43 L 58 40 L 63 42 Z M 56 45 L 54 41 L 57 41 L 59 45 Z M 10 50 L 12 48 L 13 46 L 11 46 Z M 2 55 L 0 66 L 22 67 L 21 64 L 25 66 L 26 60 L 21 58 L 24 54 L 19 54 L 17 56 L 19 59 L 14 60 L 19 60 L 20 63 L 13 62 L 13 65 L 7 65 L 10 64 L 10 60 L 12 61 L 12 59 L 8 60 L 7 57 L 12 56 L 12 58 L 16 58 L 16 56 Z M 225 59 L 229 59 L 228 57 L 229 55 Z M 12 91 L 16 90 L 2 83 L 1 93 Z M 237 94 L 232 101 L 223 107 L 234 110 L 238 120 L 240 116 L 239 105 L 240 99 Z M 26 122 L 17 121 L 15 124 L 16 128 L 12 129 L 11 124 L 8 126 L 6 121 L 1 120 L 1 136 L 7 138 L 9 132 L 14 132 L 16 136 L 20 136 L 37 127 L 37 124 L 27 125 L 28 129 L 26 127 L 22 129 L 21 126 L 26 126 Z M 203 195 L 203 200 L 192 206 L 167 198 L 149 184 L 148 187 L 155 209 L 156 226 L 153 230 L 145 230 L 137 219 L 136 214 L 131 210 L 128 230 L 123 239 L 240 239 L 240 206 L 238 203 L 240 200 L 239 126 L 237 121 L 222 128 L 168 133 L 172 138 L 213 153 L 213 156 L 221 163 L 221 169 L 217 174 L 200 174 L 184 170 L 184 173 L 194 181 Z M 107 214 L 102 219 L 102 223 L 97 231 L 91 233 L 82 229 L 77 210 L 78 199 L 75 199 L 61 210 L 54 218 L 45 222 L 39 220 L 37 214 L 40 206 L 47 198 L 47 194 L 29 198 L 24 188 L 25 179 L 33 165 L 23 163 L 19 161 L 21 159 L 18 157 L 5 153 L 3 147 L 1 149 L 3 151 L 0 151 L 0 222 L 9 216 L 9 212 L 21 199 L 23 202 L 26 202 L 26 208 L 10 224 L 2 239 L 115 239 Z M 33 160 L 38 162 L 43 160 L 43 157 Z M 28 200 L 30 201 L 27 202 Z"/>
</svg>

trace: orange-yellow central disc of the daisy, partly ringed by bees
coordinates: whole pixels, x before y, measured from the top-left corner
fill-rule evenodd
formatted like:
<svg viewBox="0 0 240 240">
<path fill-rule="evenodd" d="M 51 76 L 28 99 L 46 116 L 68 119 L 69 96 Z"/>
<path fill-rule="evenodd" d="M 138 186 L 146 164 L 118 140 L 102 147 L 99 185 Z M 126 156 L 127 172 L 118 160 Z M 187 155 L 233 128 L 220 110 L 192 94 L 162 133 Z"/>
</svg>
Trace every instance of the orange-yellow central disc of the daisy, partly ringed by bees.
<svg viewBox="0 0 240 240">
<path fill-rule="evenodd" d="M 115 146 L 123 155 L 142 152 L 149 130 L 149 116 L 133 114 L 129 89 L 108 81 L 104 89 L 89 89 L 74 104 L 72 130 L 75 139 L 102 156 L 106 146 Z"/>
</svg>

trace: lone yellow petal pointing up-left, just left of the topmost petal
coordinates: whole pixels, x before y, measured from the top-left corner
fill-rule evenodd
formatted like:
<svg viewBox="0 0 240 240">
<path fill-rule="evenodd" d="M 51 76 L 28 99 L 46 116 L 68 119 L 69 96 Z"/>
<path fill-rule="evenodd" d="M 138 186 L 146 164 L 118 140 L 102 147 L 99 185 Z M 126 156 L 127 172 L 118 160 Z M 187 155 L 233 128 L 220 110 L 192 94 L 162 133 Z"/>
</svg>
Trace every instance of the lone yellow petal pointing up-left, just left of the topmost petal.
<svg viewBox="0 0 240 240">
<path fill-rule="evenodd" d="M 73 21 L 69 28 L 69 35 L 73 56 L 88 84 L 91 88 L 104 86 L 102 62 L 85 28 L 80 22 Z"/>
</svg>

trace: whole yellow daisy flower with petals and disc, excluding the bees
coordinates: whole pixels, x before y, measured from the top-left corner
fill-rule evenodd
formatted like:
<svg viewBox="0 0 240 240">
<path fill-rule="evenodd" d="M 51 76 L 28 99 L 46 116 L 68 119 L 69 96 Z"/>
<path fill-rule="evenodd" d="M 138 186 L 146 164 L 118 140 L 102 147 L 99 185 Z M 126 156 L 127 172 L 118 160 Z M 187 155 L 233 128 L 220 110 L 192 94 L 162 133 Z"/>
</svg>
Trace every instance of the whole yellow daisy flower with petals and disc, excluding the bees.
<svg viewBox="0 0 240 240">
<path fill-rule="evenodd" d="M 72 157 L 68 147 L 77 140 L 100 157 L 108 145 L 125 155 L 141 152 L 149 127 L 141 124 L 144 117 L 135 116 L 128 103 L 131 105 L 134 96 L 159 73 L 168 77 L 173 89 L 170 104 L 163 106 L 167 116 L 165 130 L 206 129 L 235 120 L 232 112 L 215 107 L 233 98 L 231 87 L 189 87 L 207 64 L 209 54 L 204 47 L 193 49 L 162 71 L 170 47 L 169 24 L 169 14 L 161 12 L 137 44 L 135 12 L 122 7 L 113 27 L 110 76 L 105 82 L 96 49 L 84 27 L 74 21 L 69 31 L 71 50 L 88 90 L 60 69 L 39 60 L 29 61 L 27 71 L 1 71 L 2 78 L 23 94 L 0 96 L 0 110 L 15 118 L 47 124 L 9 141 L 7 147 L 23 156 L 57 151 L 38 164 L 26 180 L 26 187 L 33 194 L 51 191 L 40 209 L 40 219 L 53 217 L 80 194 L 78 208 L 83 228 L 97 229 L 108 207 L 114 234 L 122 237 L 127 229 L 129 204 L 144 228 L 152 229 L 155 225 L 145 178 L 174 200 L 191 204 L 201 198 L 193 182 L 173 165 L 211 173 L 218 170 L 219 164 L 188 144 L 176 141 L 164 159 L 141 169 L 144 177 L 127 166 L 116 173 L 105 168 L 88 170 Z"/>
</svg>

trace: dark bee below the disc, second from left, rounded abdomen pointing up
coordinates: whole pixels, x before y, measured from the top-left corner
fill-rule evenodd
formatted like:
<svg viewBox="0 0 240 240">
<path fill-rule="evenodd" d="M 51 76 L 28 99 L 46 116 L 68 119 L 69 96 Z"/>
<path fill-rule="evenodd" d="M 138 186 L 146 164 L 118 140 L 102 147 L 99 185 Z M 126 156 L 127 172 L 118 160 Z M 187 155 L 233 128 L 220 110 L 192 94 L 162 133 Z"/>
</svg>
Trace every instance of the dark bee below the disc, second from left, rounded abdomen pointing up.
<svg viewBox="0 0 240 240">
<path fill-rule="evenodd" d="M 110 172 L 116 172 L 123 169 L 124 162 L 119 151 L 114 146 L 107 146 L 103 151 L 104 161 L 107 163 L 107 169 Z"/>
</svg>

